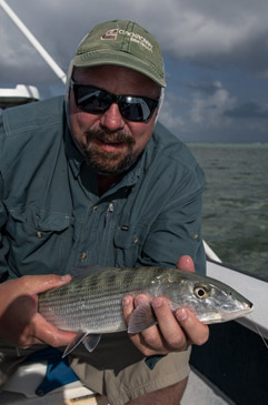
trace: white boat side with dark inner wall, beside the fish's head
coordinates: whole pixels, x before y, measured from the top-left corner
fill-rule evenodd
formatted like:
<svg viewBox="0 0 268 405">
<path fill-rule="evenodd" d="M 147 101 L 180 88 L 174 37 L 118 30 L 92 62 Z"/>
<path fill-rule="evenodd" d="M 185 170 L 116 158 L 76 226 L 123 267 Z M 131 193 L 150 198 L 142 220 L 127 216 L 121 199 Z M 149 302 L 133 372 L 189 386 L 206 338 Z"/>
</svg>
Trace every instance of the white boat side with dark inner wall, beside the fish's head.
<svg viewBox="0 0 268 405">
<path fill-rule="evenodd" d="M 207 274 L 239 291 L 254 303 L 254 311 L 235 321 L 209 325 L 209 341 L 192 347 L 192 375 L 181 405 L 265 405 L 268 283 L 211 259 L 208 251 Z"/>
</svg>

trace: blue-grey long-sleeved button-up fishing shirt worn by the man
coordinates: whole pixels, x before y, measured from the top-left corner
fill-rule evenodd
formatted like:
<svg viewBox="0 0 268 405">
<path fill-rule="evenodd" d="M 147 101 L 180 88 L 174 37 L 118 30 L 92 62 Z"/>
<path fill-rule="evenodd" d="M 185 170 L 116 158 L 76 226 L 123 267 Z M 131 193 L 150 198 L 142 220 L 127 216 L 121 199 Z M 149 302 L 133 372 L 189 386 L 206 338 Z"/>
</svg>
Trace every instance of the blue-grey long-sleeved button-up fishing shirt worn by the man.
<svg viewBox="0 0 268 405">
<path fill-rule="evenodd" d="M 204 274 L 204 188 L 187 146 L 157 124 L 140 159 L 99 196 L 62 97 L 8 109 L 0 117 L 0 273 L 173 267 L 188 254 Z"/>
</svg>

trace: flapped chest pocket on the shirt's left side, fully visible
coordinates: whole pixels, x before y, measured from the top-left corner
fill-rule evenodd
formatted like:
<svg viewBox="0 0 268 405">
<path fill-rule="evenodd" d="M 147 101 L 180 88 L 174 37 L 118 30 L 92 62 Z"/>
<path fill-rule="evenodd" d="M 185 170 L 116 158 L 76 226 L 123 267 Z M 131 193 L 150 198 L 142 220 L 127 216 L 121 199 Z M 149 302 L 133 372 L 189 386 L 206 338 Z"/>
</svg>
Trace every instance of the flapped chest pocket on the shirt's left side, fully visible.
<svg viewBox="0 0 268 405">
<path fill-rule="evenodd" d="M 70 216 L 32 207 L 11 209 L 6 227 L 9 263 L 19 273 L 60 273 L 68 259 Z"/>
</svg>

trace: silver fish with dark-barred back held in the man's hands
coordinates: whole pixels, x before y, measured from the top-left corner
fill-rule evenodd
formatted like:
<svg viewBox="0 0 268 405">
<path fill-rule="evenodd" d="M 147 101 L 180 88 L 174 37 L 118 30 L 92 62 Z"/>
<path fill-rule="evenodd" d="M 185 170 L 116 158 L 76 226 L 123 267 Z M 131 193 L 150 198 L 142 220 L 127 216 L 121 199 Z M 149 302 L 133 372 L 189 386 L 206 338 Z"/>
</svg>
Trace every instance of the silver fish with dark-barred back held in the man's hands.
<svg viewBox="0 0 268 405">
<path fill-rule="evenodd" d="M 81 273 L 81 270 L 75 269 L 76 273 Z M 75 275 L 69 284 L 41 293 L 39 312 L 58 328 L 79 333 L 67 353 L 81 341 L 92 351 L 101 334 L 127 330 L 122 297 L 140 293 L 147 294 L 150 300 L 163 295 L 172 311 L 188 307 L 207 324 L 234 320 L 252 310 L 252 304 L 238 292 L 207 276 L 177 269 L 89 266 L 83 267 L 82 275 Z M 139 333 L 155 323 L 150 305 L 138 305 L 128 332 Z"/>
</svg>

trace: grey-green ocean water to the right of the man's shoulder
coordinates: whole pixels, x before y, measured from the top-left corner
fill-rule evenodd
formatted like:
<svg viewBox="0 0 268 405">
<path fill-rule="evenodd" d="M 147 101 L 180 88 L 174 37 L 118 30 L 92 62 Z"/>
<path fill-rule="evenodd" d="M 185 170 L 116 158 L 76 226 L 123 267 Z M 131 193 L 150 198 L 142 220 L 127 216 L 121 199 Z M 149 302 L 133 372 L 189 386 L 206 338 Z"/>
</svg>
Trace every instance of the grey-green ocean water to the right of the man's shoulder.
<svg viewBox="0 0 268 405">
<path fill-rule="evenodd" d="M 202 236 L 224 263 L 268 281 L 268 143 L 188 144 L 202 168 Z"/>
</svg>

